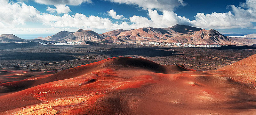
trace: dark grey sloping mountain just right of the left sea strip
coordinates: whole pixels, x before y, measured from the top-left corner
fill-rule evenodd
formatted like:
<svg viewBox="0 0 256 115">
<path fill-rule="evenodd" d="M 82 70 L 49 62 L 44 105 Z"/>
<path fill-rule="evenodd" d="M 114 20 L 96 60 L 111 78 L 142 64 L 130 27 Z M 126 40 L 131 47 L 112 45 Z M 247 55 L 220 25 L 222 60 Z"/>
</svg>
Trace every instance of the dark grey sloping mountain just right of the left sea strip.
<svg viewBox="0 0 256 115">
<path fill-rule="evenodd" d="M 48 37 L 45 37 L 45 38 L 39 38 L 41 40 L 48 40 L 48 41 L 55 41 L 55 40 L 60 40 L 61 38 L 64 38 L 70 34 L 73 34 L 74 32 L 68 32 L 68 31 L 61 31 L 61 32 L 58 32 L 52 36 L 48 36 Z"/>
</svg>

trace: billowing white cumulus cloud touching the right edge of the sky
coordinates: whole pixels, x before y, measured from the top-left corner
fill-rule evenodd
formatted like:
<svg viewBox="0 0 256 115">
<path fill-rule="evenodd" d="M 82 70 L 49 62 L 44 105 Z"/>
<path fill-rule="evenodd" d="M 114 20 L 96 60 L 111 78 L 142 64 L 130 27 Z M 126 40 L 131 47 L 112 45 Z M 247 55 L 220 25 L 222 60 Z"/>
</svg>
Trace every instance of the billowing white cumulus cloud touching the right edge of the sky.
<svg viewBox="0 0 256 115">
<path fill-rule="evenodd" d="M 240 3 L 240 6 L 229 5 L 231 11 L 227 13 L 197 13 L 196 19 L 192 20 L 191 24 L 201 28 L 253 27 L 252 22 L 256 22 L 256 2 L 247 0 L 245 3 Z"/>
</svg>

